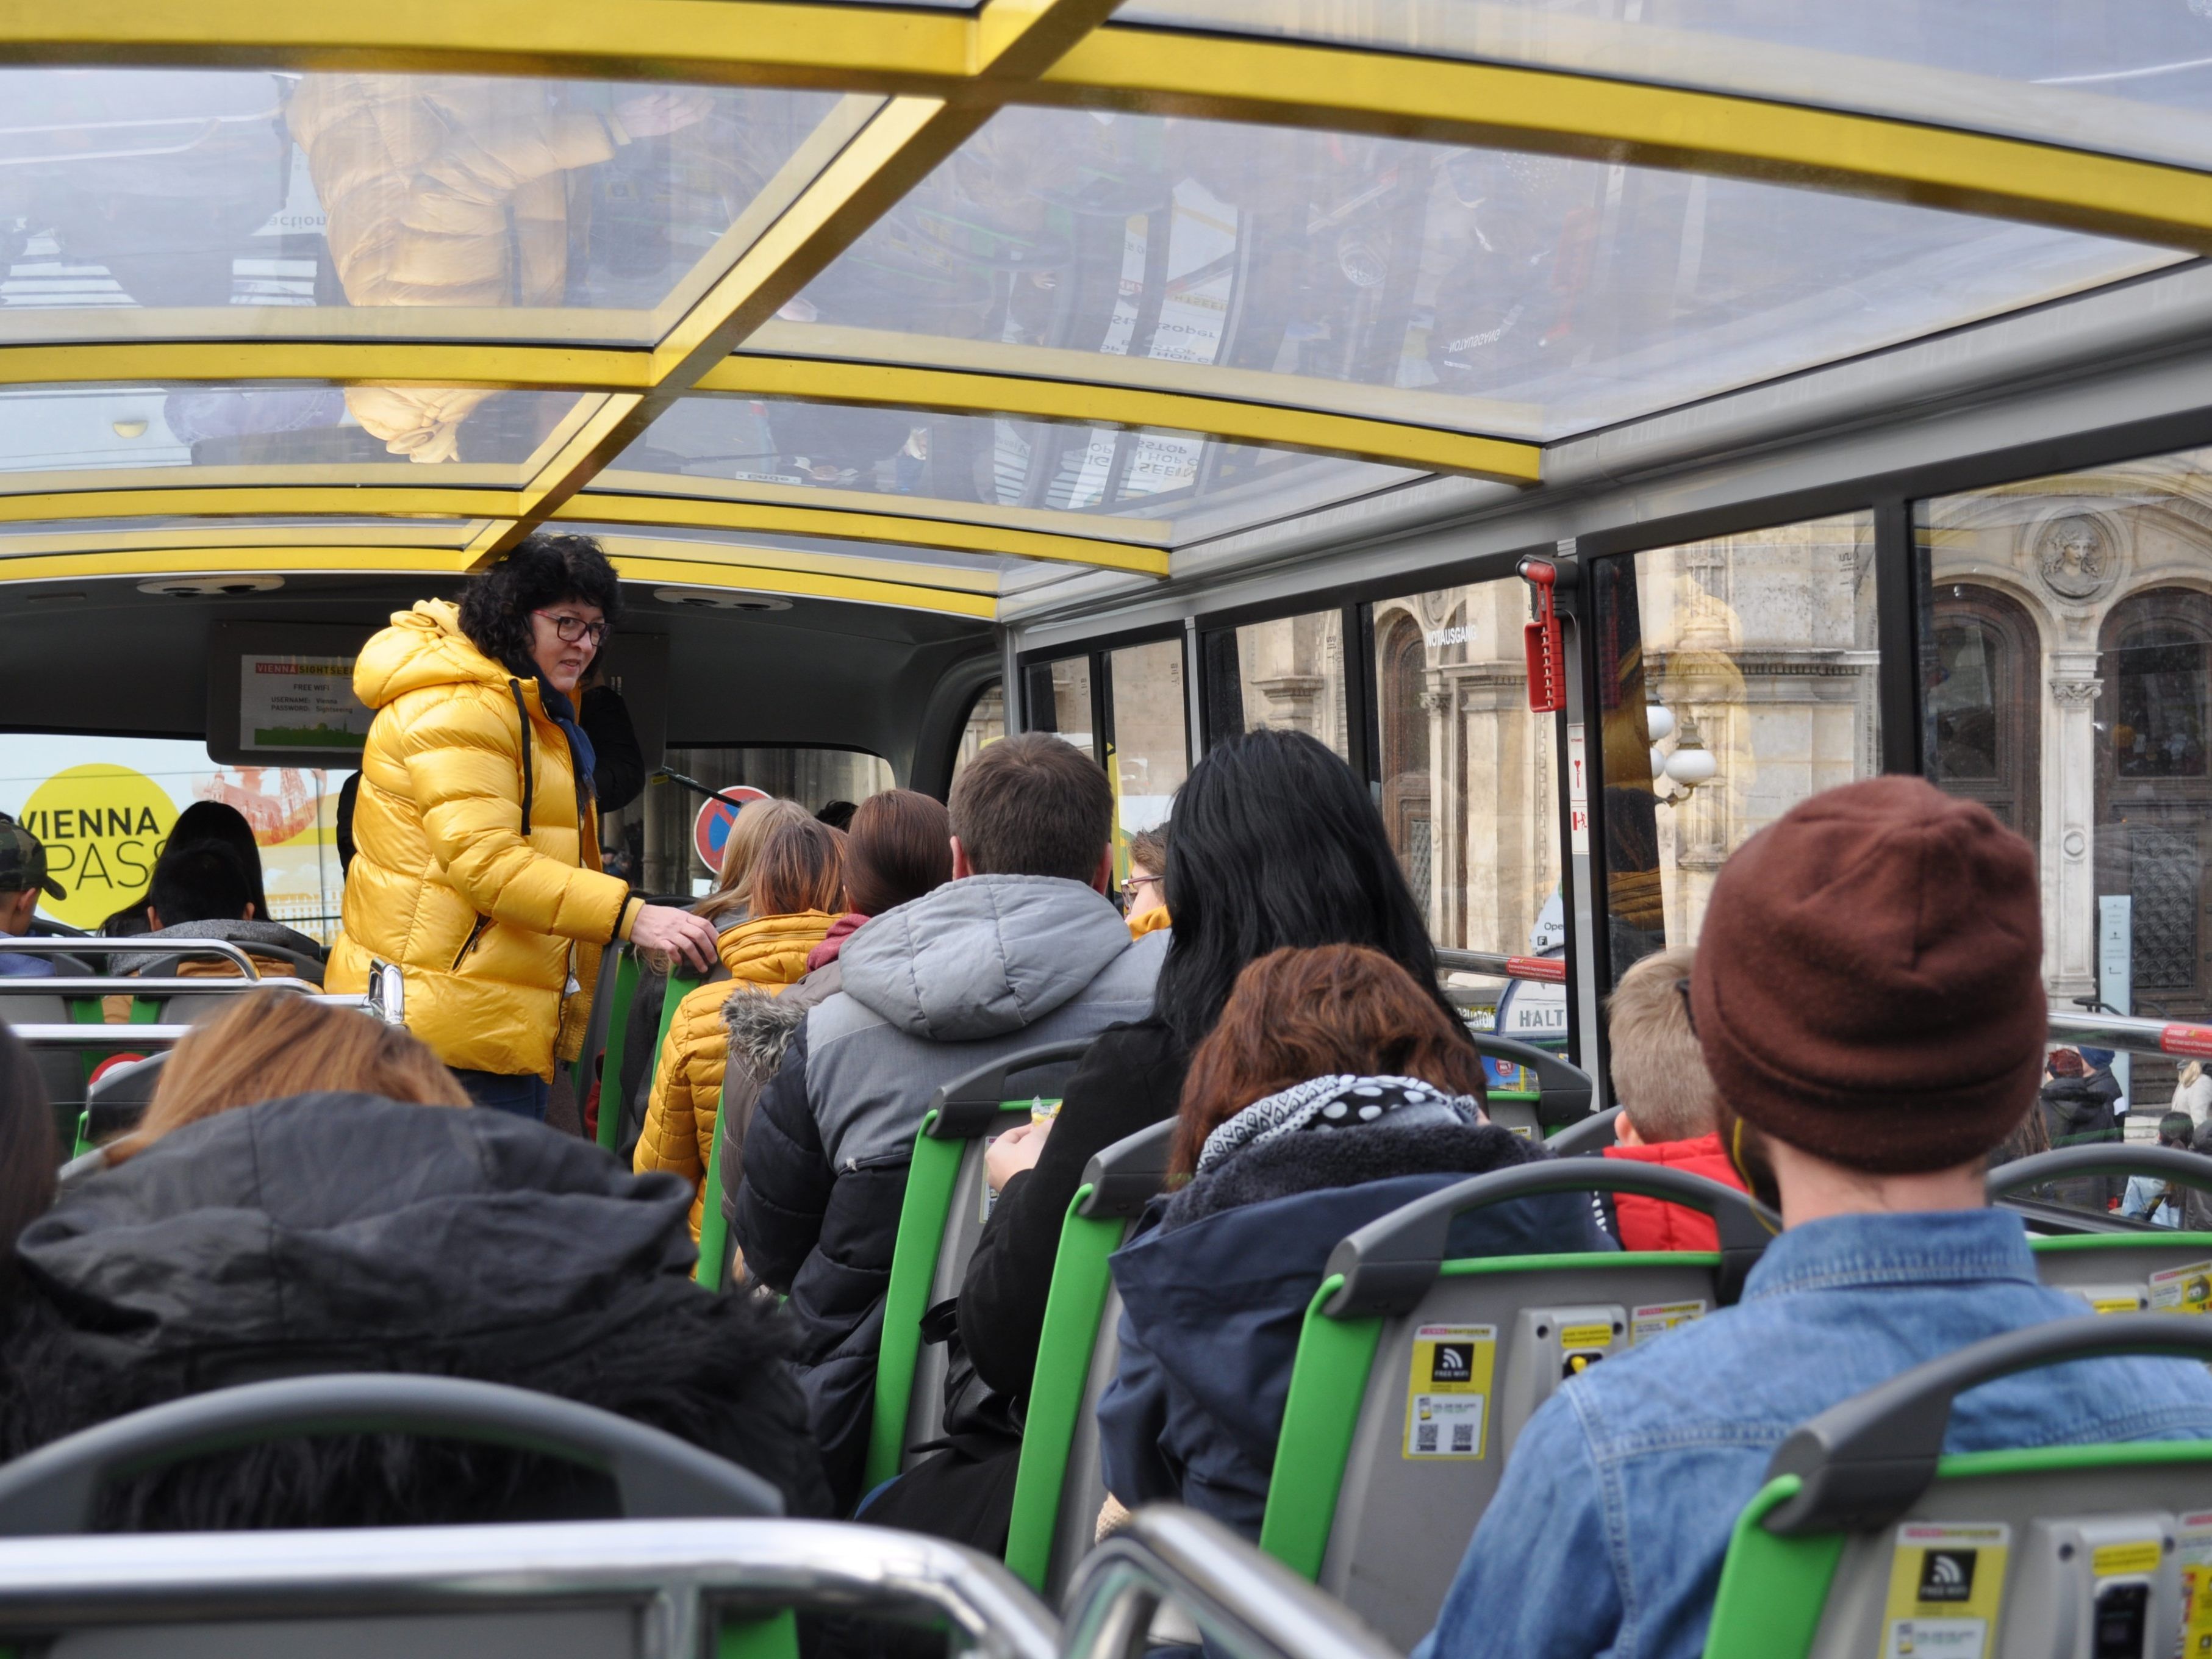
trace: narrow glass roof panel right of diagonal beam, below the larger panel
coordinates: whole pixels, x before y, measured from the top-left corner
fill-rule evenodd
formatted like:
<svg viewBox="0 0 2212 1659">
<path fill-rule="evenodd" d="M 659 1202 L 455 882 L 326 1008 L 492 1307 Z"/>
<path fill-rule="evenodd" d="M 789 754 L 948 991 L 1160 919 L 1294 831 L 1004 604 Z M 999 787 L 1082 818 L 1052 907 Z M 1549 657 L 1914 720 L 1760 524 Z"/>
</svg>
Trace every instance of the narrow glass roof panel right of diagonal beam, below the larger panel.
<svg viewBox="0 0 2212 1659">
<path fill-rule="evenodd" d="M 1130 540 L 1155 544 L 1183 540 L 1192 518 L 1210 531 L 1241 529 L 1420 476 L 1183 431 L 730 396 L 679 400 L 615 471 L 628 476 L 599 484 L 681 473 L 750 484 L 748 500 L 867 509 L 878 504 L 867 498 L 907 498 L 880 507 L 1077 535 L 1115 535 L 1113 520 L 1141 520 Z M 1285 504 L 1285 489 L 1303 504 Z"/>
</svg>

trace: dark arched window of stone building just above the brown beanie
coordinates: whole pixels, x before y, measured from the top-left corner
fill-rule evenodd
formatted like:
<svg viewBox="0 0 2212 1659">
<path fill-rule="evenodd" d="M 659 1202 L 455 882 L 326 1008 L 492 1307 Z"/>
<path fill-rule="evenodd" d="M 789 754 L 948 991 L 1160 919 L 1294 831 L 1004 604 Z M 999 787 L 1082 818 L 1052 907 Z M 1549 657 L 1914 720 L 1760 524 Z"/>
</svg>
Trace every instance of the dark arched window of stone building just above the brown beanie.
<svg viewBox="0 0 2212 1659">
<path fill-rule="evenodd" d="M 1944 584 L 1936 588 L 1931 633 L 1929 783 L 1980 801 L 2035 845 L 2042 827 L 2035 624 L 1995 588 Z"/>
</svg>

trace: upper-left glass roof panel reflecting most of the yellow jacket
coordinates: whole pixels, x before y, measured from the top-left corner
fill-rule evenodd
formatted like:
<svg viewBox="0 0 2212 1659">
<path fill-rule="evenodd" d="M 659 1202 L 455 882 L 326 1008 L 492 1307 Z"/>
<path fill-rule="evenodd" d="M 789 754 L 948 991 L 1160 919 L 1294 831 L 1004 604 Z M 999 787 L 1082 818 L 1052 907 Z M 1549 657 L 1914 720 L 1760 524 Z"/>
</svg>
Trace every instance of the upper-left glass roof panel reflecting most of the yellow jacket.
<svg viewBox="0 0 2212 1659">
<path fill-rule="evenodd" d="M 0 341 L 650 341 L 750 241 L 745 210 L 805 184 L 805 139 L 836 106 L 456 75 L 0 71 Z"/>
</svg>

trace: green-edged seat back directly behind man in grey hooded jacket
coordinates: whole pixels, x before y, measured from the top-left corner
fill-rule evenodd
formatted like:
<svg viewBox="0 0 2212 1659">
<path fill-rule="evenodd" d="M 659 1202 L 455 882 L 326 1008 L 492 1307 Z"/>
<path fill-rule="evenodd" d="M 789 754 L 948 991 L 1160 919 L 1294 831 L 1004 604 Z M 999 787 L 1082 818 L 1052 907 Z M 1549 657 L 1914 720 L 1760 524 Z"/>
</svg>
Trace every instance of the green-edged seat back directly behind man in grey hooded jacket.
<svg viewBox="0 0 2212 1659">
<path fill-rule="evenodd" d="M 945 1411 L 947 1354 L 922 1340 L 922 1316 L 960 1294 L 969 1256 L 991 1217 L 984 1181 L 987 1139 L 1013 1128 L 1033 1106 L 1053 1102 L 1084 1057 L 1091 1037 L 1022 1048 L 945 1084 L 922 1113 L 898 1210 L 891 1283 L 883 1298 L 883 1347 L 876 1358 L 876 1405 L 867 1436 L 865 1486 L 880 1486 L 907 1467 L 907 1447 L 933 1440 Z M 1013 1077 L 1037 1073 L 1037 1093 L 1011 1099 Z M 1046 1093 L 1048 1091 L 1048 1093 Z"/>
</svg>

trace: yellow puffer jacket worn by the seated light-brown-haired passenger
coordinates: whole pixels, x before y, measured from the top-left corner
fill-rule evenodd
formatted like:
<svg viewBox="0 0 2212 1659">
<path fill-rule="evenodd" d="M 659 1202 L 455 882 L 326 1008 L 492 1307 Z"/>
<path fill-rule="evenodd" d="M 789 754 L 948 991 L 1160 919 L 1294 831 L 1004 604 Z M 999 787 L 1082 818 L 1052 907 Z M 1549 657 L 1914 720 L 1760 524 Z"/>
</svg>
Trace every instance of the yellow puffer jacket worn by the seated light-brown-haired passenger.
<svg viewBox="0 0 2212 1659">
<path fill-rule="evenodd" d="M 743 984 L 781 991 L 807 973 L 807 951 L 823 942 L 836 916 L 803 909 L 792 916 L 763 916 L 732 927 L 721 936 L 721 964 Z M 697 1188 L 692 1197 L 692 1239 L 706 1214 L 706 1164 L 714 1150 L 714 1115 L 721 1110 L 721 1073 L 730 1064 L 730 1033 L 721 1024 L 721 1004 L 730 987 L 721 980 L 701 984 L 686 995 L 668 1018 L 668 1040 L 653 1068 L 653 1097 L 646 1104 L 646 1128 L 637 1137 L 630 1168 L 675 1170 Z"/>
</svg>

